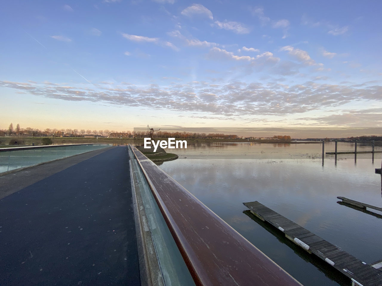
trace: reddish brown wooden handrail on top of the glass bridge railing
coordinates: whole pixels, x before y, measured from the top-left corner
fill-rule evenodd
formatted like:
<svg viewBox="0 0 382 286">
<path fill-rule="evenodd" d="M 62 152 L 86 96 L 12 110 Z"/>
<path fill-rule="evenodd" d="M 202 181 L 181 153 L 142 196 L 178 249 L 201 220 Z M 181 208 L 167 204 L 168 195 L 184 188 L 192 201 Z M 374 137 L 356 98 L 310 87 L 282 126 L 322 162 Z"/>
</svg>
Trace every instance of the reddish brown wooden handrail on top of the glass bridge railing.
<svg viewBox="0 0 382 286">
<path fill-rule="evenodd" d="M 132 149 L 196 285 L 301 286 L 137 148 Z"/>
</svg>

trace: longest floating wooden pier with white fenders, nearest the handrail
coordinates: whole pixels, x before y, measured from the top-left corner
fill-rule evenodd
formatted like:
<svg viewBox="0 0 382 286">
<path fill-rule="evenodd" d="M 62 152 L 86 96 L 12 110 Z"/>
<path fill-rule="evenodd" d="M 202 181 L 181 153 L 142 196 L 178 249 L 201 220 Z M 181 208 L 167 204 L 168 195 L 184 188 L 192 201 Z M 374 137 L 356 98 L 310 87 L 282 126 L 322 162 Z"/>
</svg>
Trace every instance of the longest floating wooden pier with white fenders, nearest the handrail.
<svg viewBox="0 0 382 286">
<path fill-rule="evenodd" d="M 282 231 L 286 238 L 350 278 L 353 285 L 382 285 L 382 272 L 380 270 L 356 259 L 354 256 L 341 250 L 340 247 L 327 242 L 258 201 L 244 202 L 243 204 L 256 217 Z"/>
</svg>

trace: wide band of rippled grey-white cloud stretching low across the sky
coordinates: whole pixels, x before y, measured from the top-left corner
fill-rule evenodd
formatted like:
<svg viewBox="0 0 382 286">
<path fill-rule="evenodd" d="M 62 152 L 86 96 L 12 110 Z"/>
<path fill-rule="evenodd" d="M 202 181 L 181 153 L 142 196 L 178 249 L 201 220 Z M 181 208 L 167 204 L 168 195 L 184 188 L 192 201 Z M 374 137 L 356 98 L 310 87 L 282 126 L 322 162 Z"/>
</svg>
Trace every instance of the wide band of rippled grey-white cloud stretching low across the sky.
<svg viewBox="0 0 382 286">
<path fill-rule="evenodd" d="M 0 81 L 0 87 L 23 90 L 35 96 L 66 101 L 84 101 L 98 104 L 115 104 L 148 108 L 152 110 L 174 110 L 177 112 L 207 112 L 214 116 L 283 116 L 287 114 L 302 114 L 304 112 L 325 108 L 334 108 L 346 103 L 357 103 L 374 100 L 380 103 L 382 86 L 368 83 L 362 87 L 347 85 L 318 84 L 305 82 L 303 84 L 284 85 L 279 82 L 243 83 L 230 82 L 210 88 L 202 85 L 176 84 L 159 87 L 147 85 L 97 85 L 99 88 L 70 87 L 62 85 L 32 84 L 22 82 Z M 351 124 L 363 123 L 363 118 L 377 124 L 382 118 L 381 108 L 369 111 L 348 111 L 353 114 L 346 120 Z M 365 117 L 363 117 L 365 116 Z M 309 117 L 312 120 L 317 118 Z M 333 116 L 321 117 L 322 122 L 341 122 Z M 359 119 L 360 118 L 360 119 Z M 367 119 L 366 118 L 366 119 Z M 299 118 L 304 120 L 303 118 Z M 308 120 L 308 118 L 305 118 Z M 343 119 L 343 122 L 346 121 Z"/>
</svg>

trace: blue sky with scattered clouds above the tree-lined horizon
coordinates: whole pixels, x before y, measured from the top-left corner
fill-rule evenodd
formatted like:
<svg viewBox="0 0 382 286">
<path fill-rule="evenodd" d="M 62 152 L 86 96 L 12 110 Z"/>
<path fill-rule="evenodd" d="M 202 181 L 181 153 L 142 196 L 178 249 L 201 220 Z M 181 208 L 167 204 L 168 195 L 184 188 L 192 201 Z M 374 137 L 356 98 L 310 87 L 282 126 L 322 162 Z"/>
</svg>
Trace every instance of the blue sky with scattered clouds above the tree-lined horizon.
<svg viewBox="0 0 382 286">
<path fill-rule="evenodd" d="M 0 129 L 382 127 L 381 10 L 353 0 L 3 2 Z"/>
</svg>

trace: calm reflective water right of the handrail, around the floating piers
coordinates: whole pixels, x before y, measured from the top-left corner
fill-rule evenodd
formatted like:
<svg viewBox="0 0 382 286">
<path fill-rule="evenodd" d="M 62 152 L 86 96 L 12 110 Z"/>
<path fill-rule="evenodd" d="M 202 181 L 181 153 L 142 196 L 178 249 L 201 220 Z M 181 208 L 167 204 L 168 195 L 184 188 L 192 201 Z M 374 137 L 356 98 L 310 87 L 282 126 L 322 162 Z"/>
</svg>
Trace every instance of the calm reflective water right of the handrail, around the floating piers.
<svg viewBox="0 0 382 286">
<path fill-rule="evenodd" d="M 354 144 L 338 143 L 340 149 Z M 364 262 L 382 259 L 382 219 L 337 204 L 336 198 L 382 207 L 382 179 L 374 173 L 381 153 L 374 164 L 372 154 L 356 160 L 354 154 L 341 155 L 336 164 L 334 155 L 326 155 L 324 165 L 321 144 L 195 144 L 175 153 L 179 159 L 160 167 L 304 285 L 347 281 L 324 262 L 311 264 L 309 254 L 244 214 L 243 202 L 259 201 Z"/>
</svg>

